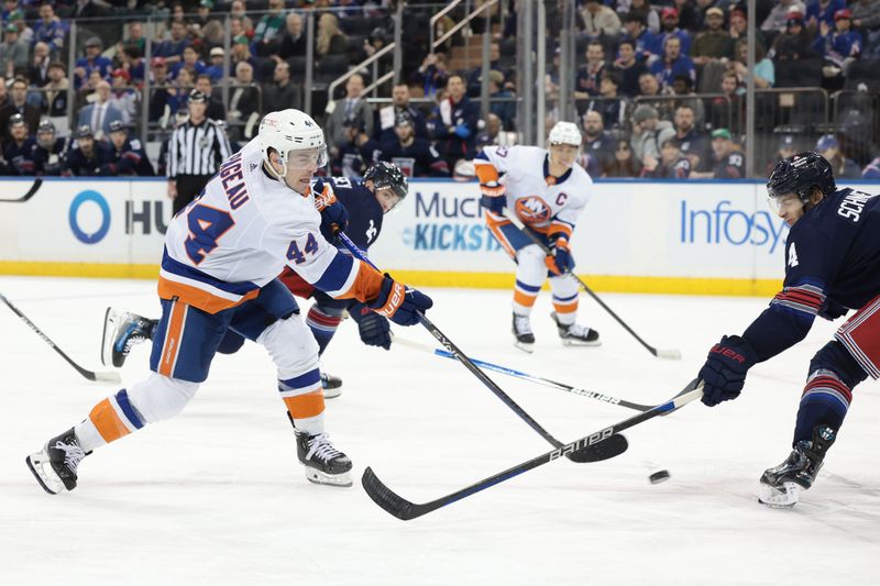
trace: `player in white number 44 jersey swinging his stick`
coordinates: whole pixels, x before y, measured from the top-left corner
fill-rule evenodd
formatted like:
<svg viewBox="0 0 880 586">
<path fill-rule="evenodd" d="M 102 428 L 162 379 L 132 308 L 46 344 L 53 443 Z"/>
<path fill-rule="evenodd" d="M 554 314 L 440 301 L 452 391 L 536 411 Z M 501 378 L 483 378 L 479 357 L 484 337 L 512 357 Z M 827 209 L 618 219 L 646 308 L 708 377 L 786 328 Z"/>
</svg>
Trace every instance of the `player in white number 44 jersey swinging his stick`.
<svg viewBox="0 0 880 586">
<path fill-rule="evenodd" d="M 276 276 L 286 264 L 316 288 L 356 298 L 402 325 L 417 323 L 417 312 L 432 302 L 321 236 L 309 185 L 326 163 L 323 131 L 310 117 L 272 112 L 257 137 L 174 217 L 160 273 L 153 373 L 103 399 L 82 422 L 28 456 L 46 491 L 76 487 L 77 467 L 94 450 L 179 413 L 207 378 L 230 329 L 265 346 L 275 362 L 306 477 L 351 486 L 351 461 L 324 433 L 318 344 Z"/>
</svg>

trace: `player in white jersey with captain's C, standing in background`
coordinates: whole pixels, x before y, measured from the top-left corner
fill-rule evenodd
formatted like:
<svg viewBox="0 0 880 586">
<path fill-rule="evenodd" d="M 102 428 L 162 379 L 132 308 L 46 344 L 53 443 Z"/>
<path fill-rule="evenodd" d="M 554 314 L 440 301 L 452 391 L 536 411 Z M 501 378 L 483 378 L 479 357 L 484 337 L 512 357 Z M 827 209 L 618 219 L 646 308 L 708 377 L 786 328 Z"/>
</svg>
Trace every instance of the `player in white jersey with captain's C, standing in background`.
<svg viewBox="0 0 880 586">
<path fill-rule="evenodd" d="M 576 323 L 578 281 L 566 275 L 574 268 L 569 241 L 593 188 L 590 175 L 575 163 L 581 131 L 571 122 L 558 122 L 548 144 L 548 151 L 537 146 L 487 146 L 474 158 L 486 223 L 517 263 L 514 344 L 526 352 L 531 352 L 535 344 L 529 316 L 548 275 L 556 309 L 551 317 L 562 343 L 601 343 L 598 332 Z M 506 213 L 515 213 L 527 230 L 550 246 L 552 254 L 546 255 Z"/>
</svg>

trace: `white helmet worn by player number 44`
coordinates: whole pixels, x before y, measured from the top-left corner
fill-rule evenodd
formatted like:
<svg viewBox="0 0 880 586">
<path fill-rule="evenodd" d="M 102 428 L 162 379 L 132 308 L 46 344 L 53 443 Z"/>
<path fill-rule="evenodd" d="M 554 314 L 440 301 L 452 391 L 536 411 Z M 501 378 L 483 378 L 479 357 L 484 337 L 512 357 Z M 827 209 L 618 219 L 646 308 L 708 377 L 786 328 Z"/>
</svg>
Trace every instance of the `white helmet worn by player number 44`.
<svg viewBox="0 0 880 586">
<path fill-rule="evenodd" d="M 318 166 L 327 165 L 327 143 L 323 131 L 306 112 L 289 108 L 270 112 L 260 122 L 260 150 L 263 161 L 268 163 L 268 150 L 278 154 L 282 164 L 280 177 L 287 175 L 287 157 L 292 151 L 318 152 Z M 270 165 L 271 168 L 271 165 Z"/>
</svg>

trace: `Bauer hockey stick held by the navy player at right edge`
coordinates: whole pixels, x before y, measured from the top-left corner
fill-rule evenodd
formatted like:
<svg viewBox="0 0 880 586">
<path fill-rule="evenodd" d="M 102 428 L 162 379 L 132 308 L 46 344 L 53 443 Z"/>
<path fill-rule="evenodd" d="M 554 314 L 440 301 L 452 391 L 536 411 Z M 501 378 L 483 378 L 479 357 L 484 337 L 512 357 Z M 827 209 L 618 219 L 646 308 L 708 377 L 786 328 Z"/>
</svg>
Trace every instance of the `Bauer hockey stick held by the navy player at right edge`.
<svg viewBox="0 0 880 586">
<path fill-rule="evenodd" d="M 501 484 L 505 480 L 509 480 L 515 476 L 519 476 L 524 472 L 528 472 L 532 468 L 537 468 L 538 466 L 542 466 L 548 462 L 552 462 L 553 460 L 558 460 L 560 456 L 565 455 L 569 452 L 575 450 L 582 450 L 585 446 L 591 445 L 602 445 L 608 438 L 615 438 L 617 434 L 625 429 L 631 428 L 634 425 L 638 425 L 649 419 L 652 419 L 657 416 L 670 413 L 675 411 L 676 409 L 681 409 L 689 402 L 698 399 L 703 396 L 703 384 L 698 380 L 692 380 L 685 388 L 670 399 L 669 401 L 658 405 L 650 409 L 649 411 L 645 411 L 644 413 L 639 413 L 637 416 L 632 416 L 629 419 L 620 421 L 619 423 L 615 423 L 614 425 L 609 425 L 605 429 L 602 429 L 595 433 L 591 433 L 590 435 L 585 435 L 580 440 L 575 440 L 569 444 L 565 444 L 557 450 L 551 452 L 547 452 L 546 454 L 541 454 L 537 457 L 522 462 L 521 464 L 517 464 L 512 468 L 507 468 L 504 472 L 499 472 L 494 476 L 490 476 L 488 478 L 483 478 L 482 480 L 472 484 L 466 488 L 462 488 L 461 490 L 455 490 L 444 497 L 440 497 L 438 499 L 428 501 L 428 502 L 411 502 L 402 496 L 394 493 L 391 488 L 388 488 L 382 480 L 378 479 L 376 473 L 373 472 L 373 468 L 367 467 L 364 471 L 363 476 L 361 477 L 361 484 L 364 486 L 364 490 L 366 494 L 370 495 L 370 498 L 373 499 L 373 502 L 385 509 L 388 513 L 397 517 L 400 520 L 408 521 L 410 519 L 415 519 L 417 517 L 421 517 L 422 515 L 427 515 L 431 511 L 435 511 L 441 507 L 446 507 L 447 505 L 451 505 L 457 500 L 461 500 L 463 498 L 470 497 L 471 495 L 475 495 L 486 488 L 495 486 L 496 484 Z"/>
</svg>

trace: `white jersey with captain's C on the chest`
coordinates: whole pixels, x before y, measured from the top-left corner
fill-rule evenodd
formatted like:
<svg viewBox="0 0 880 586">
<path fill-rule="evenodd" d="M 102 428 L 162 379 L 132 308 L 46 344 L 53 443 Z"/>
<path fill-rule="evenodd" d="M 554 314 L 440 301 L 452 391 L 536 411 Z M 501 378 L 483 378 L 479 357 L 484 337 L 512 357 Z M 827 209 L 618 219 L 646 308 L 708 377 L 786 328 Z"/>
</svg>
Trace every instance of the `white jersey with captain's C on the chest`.
<svg viewBox="0 0 880 586">
<path fill-rule="evenodd" d="M 482 181 L 495 180 L 486 166 L 501 175 L 497 180 L 505 186 L 507 209 L 516 211 L 522 223 L 544 234 L 562 232 L 570 237 L 592 195 L 593 179 L 576 163 L 561 177 L 551 176 L 548 165 L 548 152 L 537 146 L 486 146 L 474 158 Z"/>
</svg>

